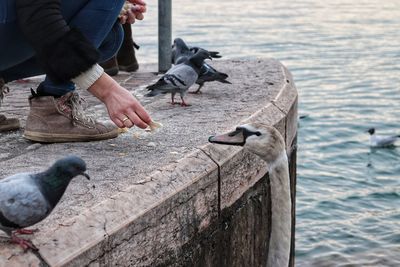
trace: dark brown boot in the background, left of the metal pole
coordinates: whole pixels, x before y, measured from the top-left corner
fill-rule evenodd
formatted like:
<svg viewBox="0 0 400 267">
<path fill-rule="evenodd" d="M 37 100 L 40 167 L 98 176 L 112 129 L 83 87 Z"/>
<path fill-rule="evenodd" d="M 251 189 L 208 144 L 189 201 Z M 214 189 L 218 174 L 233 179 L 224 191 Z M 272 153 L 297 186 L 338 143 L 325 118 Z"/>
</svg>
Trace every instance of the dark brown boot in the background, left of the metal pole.
<svg viewBox="0 0 400 267">
<path fill-rule="evenodd" d="M 122 71 L 137 71 L 139 63 L 135 56 L 135 48 L 139 49 L 139 46 L 132 39 L 131 24 L 125 23 L 122 27 L 124 29 L 124 41 L 117 54 L 118 67 Z"/>
</svg>

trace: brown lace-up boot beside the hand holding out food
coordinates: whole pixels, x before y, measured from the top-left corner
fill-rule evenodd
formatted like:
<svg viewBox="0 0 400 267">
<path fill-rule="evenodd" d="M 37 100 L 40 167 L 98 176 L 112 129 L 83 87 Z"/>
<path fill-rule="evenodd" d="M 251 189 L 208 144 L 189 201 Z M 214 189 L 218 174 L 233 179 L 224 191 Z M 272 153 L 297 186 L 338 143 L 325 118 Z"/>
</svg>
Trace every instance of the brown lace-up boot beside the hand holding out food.
<svg viewBox="0 0 400 267">
<path fill-rule="evenodd" d="M 43 143 L 61 143 L 117 137 L 118 129 L 115 126 L 96 122 L 83 113 L 82 101 L 76 92 L 60 98 L 31 96 L 25 138 Z"/>
</svg>

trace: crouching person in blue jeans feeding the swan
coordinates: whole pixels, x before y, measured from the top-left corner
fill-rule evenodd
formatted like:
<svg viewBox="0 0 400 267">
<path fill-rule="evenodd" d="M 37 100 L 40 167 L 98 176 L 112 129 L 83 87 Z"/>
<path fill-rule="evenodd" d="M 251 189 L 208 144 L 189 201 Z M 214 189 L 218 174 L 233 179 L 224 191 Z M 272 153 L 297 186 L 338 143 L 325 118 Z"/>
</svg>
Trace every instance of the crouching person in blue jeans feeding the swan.
<svg viewBox="0 0 400 267">
<path fill-rule="evenodd" d="M 150 116 L 98 62 L 112 58 L 123 40 L 118 21 L 122 0 L 0 0 L 0 102 L 8 82 L 46 74 L 29 98 L 24 136 L 38 142 L 114 138 L 117 127 L 146 128 Z M 145 3 L 124 22 L 143 18 Z M 113 125 L 85 115 L 76 86 L 107 107 Z M 19 127 L 0 114 L 0 131 Z"/>
</svg>

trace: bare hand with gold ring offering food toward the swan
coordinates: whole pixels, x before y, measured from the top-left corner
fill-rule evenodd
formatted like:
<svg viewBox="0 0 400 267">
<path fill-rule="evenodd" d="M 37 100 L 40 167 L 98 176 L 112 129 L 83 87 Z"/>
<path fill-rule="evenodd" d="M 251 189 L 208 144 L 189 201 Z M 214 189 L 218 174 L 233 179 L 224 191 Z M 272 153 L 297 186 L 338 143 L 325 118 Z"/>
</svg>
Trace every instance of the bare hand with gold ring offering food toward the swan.
<svg viewBox="0 0 400 267">
<path fill-rule="evenodd" d="M 136 125 L 145 129 L 150 124 L 151 118 L 139 101 L 106 73 L 88 90 L 106 105 L 110 119 L 119 128 Z"/>
</svg>

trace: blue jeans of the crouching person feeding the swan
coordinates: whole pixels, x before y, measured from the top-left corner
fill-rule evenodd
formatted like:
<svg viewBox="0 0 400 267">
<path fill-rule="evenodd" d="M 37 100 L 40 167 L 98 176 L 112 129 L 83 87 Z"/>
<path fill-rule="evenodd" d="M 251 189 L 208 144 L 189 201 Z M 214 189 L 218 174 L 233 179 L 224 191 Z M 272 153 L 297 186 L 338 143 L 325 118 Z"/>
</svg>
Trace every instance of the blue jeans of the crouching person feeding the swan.
<svg viewBox="0 0 400 267">
<path fill-rule="evenodd" d="M 100 62 L 113 57 L 123 41 L 117 17 L 123 0 L 61 0 L 61 13 L 68 25 L 78 28 L 100 52 Z M 44 74 L 35 51 L 24 39 L 16 21 L 15 0 L 0 0 L 0 77 L 6 82 Z M 70 83 L 45 78 L 43 93 L 61 96 L 75 90 Z"/>
</svg>

